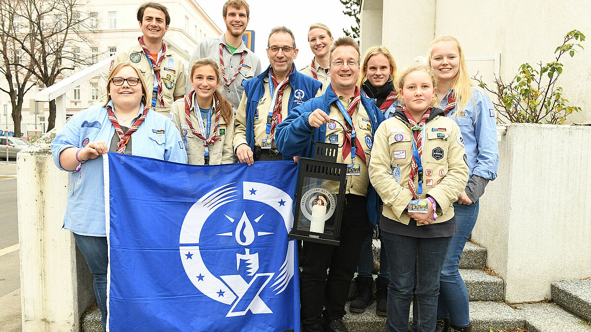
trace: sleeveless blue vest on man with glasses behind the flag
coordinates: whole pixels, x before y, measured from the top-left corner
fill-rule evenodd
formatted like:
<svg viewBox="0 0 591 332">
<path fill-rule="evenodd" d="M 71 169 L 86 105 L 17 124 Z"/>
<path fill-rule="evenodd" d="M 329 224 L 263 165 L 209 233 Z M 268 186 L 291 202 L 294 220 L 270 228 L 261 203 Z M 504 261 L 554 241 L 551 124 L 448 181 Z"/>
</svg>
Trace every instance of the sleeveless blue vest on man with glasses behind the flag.
<svg viewBox="0 0 591 332">
<path fill-rule="evenodd" d="M 271 66 L 267 67 L 267 70 L 263 71 L 258 76 L 255 76 L 244 83 L 244 93 L 246 94 L 246 142 L 248 142 L 248 146 L 253 151 L 255 147 L 254 118 L 256 106 L 258 106 L 259 100 L 261 100 L 262 96 L 265 94 L 265 84 L 267 83 L 265 83 L 264 79 L 269 75 L 269 69 L 271 69 Z M 301 74 L 294 66 L 293 71 L 290 74 L 290 86 L 291 94 L 287 106 L 288 114 L 291 113 L 291 110 L 294 107 L 301 105 L 310 98 L 316 96 L 316 93 L 318 93 L 322 87 L 322 83 L 312 77 Z M 259 116 L 266 117 L 267 114 Z M 284 154 L 283 159 L 291 160 L 291 156 L 294 155 Z"/>
</svg>

